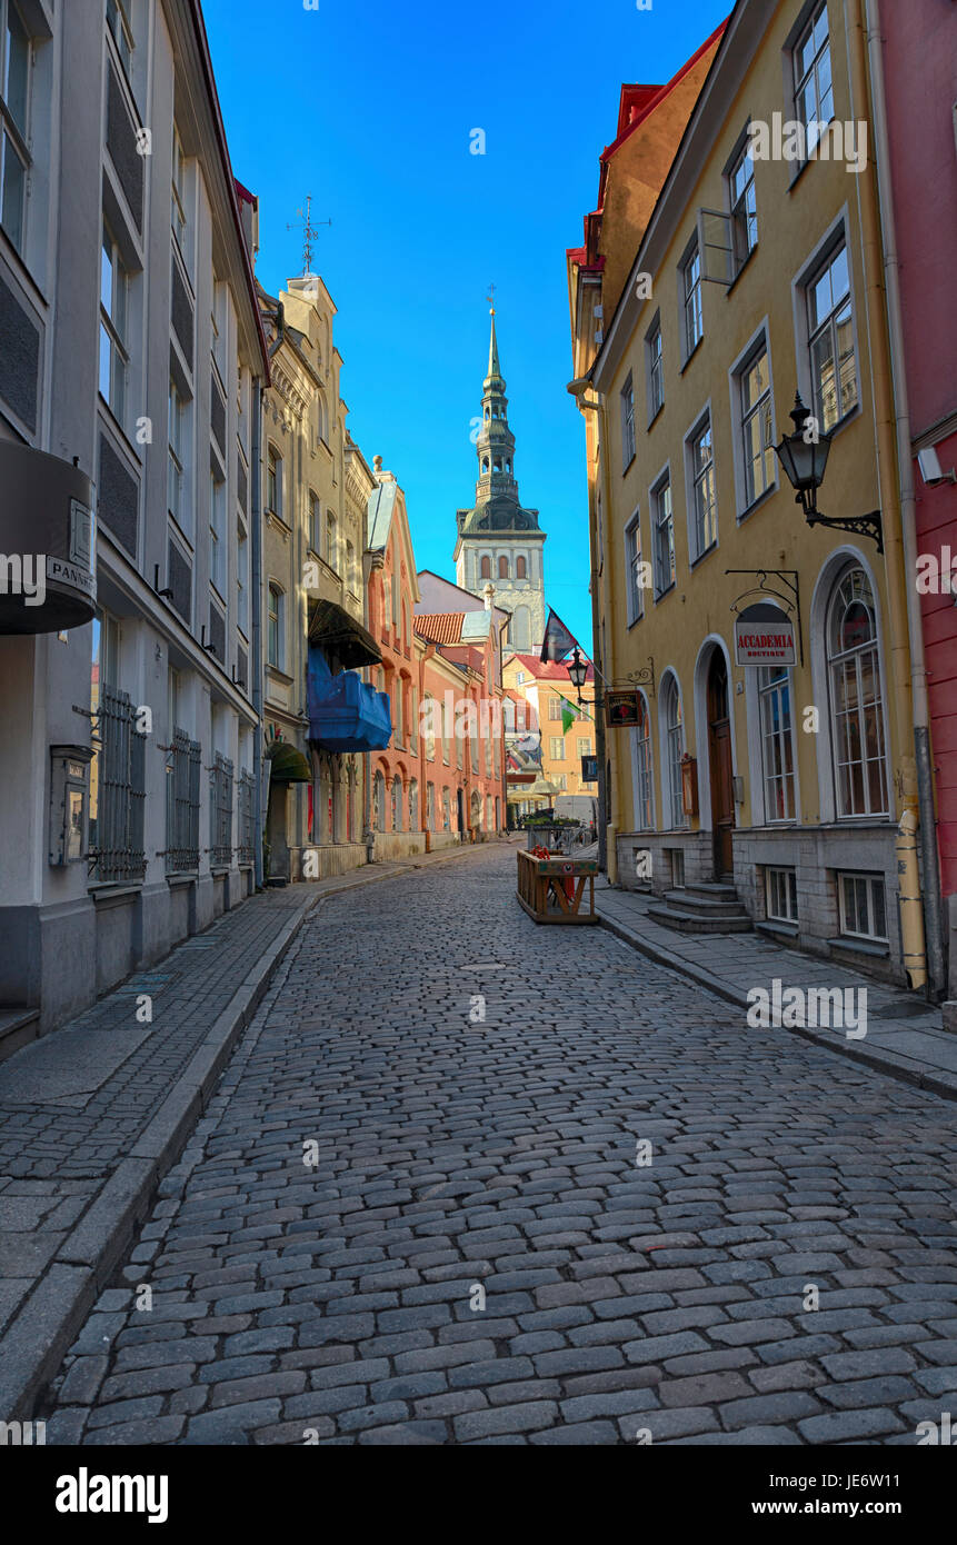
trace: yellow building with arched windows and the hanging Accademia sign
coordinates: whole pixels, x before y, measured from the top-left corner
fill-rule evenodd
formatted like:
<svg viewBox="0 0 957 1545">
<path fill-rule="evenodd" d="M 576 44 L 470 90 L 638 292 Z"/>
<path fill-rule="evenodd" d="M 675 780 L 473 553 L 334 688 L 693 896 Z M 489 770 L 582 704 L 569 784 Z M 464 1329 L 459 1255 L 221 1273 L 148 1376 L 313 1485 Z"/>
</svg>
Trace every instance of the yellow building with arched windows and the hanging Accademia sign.
<svg viewBox="0 0 957 1545">
<path fill-rule="evenodd" d="M 637 723 L 605 731 L 609 878 L 651 884 L 673 927 L 720 930 L 737 901 L 744 927 L 920 986 L 861 20 L 858 0 L 739 0 L 654 210 L 614 216 L 637 253 L 620 295 L 569 253 L 569 389 L 587 425 L 595 660 L 637 694 Z M 796 391 L 830 436 L 821 510 L 877 524 L 805 521 L 773 450 Z"/>
</svg>

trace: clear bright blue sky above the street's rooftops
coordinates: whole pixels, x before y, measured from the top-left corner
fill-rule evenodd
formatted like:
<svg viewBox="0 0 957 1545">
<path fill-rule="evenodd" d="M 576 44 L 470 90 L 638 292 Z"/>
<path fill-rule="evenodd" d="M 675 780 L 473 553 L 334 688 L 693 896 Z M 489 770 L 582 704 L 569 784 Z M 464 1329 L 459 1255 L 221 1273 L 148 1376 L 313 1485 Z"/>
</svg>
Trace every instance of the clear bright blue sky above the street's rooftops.
<svg viewBox="0 0 957 1545">
<path fill-rule="evenodd" d="M 623 80 L 665 82 L 731 0 L 204 0 L 235 175 L 260 196 L 258 277 L 317 269 L 339 307 L 348 425 L 405 488 L 416 561 L 455 578 L 490 281 L 515 471 L 547 533 L 546 599 L 591 647 L 584 436 L 564 249 L 581 243 Z M 470 131 L 485 154 L 470 154 Z"/>
</svg>

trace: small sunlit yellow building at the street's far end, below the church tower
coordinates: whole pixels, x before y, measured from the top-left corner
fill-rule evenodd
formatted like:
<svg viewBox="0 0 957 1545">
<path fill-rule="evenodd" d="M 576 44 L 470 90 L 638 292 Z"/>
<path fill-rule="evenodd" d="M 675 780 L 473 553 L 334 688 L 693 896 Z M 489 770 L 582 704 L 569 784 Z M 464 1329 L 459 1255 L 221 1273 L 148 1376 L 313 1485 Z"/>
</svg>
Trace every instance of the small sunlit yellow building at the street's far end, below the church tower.
<svg viewBox="0 0 957 1545">
<path fill-rule="evenodd" d="M 587 678 L 578 694 L 569 681 L 567 666 L 541 661 L 536 655 L 509 655 L 502 666 L 506 692 L 523 698 L 527 705 L 524 725 L 510 723 L 512 712 L 506 709 L 509 735 L 527 731 L 540 737 L 541 776 L 555 789 L 553 799 L 563 794 L 584 794 L 597 800 L 598 785 L 581 777 L 581 757 L 595 754 L 595 674 L 589 664 Z M 516 715 L 521 717 L 521 715 Z M 518 800 L 521 805 L 521 799 Z M 543 800 L 536 802 L 538 805 Z"/>
</svg>

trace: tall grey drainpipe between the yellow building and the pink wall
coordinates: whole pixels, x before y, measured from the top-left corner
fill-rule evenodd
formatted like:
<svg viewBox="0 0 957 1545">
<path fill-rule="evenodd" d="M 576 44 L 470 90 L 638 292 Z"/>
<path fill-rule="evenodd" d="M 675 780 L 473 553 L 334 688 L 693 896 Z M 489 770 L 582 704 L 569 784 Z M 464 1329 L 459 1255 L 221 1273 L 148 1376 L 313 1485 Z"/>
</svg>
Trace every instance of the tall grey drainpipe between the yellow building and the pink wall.
<svg viewBox="0 0 957 1545">
<path fill-rule="evenodd" d="M 917 595 L 917 496 L 914 488 L 914 453 L 911 437 L 911 408 L 908 400 L 908 375 L 904 365 L 904 329 L 900 298 L 900 258 L 897 255 L 897 226 L 894 219 L 894 187 L 891 181 L 891 144 L 887 134 L 887 104 L 884 96 L 884 60 L 878 0 L 864 0 L 867 25 L 867 63 L 870 77 L 870 121 L 874 127 L 874 150 L 877 162 L 877 185 L 881 209 L 881 255 L 884 272 L 884 297 L 887 309 L 887 334 L 891 346 L 891 380 L 897 419 L 897 462 L 900 476 L 900 519 L 904 545 L 904 579 L 908 598 L 908 638 L 911 644 L 911 709 L 914 720 L 914 751 L 917 760 L 917 805 L 920 859 L 923 868 L 923 932 L 926 933 L 928 997 L 940 998 L 946 987 L 943 950 L 943 905 L 940 896 L 940 867 L 937 859 L 937 819 L 934 811 L 934 769 L 931 762 L 931 729 L 928 708 L 928 672 L 925 663 L 925 640 Z M 904 813 L 904 819 L 906 819 Z M 914 822 L 917 825 L 917 822 Z M 901 820 L 901 828 L 904 822 Z M 908 840 L 908 839 L 904 839 Z M 914 868 L 917 861 L 914 856 Z M 903 876 L 901 876 L 903 879 Z M 901 888 L 901 902 L 904 901 Z M 920 874 L 914 910 L 920 905 Z M 901 908 L 903 912 L 903 908 Z M 903 916 L 901 916 L 903 924 Z M 915 930 L 912 930 L 915 932 Z M 908 938 L 904 935 L 904 946 Z M 917 981 L 914 986 L 920 986 Z"/>
</svg>

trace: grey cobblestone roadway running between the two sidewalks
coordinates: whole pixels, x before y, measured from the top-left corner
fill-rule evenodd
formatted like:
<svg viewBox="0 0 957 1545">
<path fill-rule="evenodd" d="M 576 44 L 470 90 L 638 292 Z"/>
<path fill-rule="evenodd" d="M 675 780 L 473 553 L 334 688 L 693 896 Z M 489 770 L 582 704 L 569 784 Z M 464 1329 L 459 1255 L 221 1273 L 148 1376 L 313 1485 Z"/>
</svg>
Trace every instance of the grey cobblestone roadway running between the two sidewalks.
<svg viewBox="0 0 957 1545">
<path fill-rule="evenodd" d="M 513 885 L 478 850 L 312 913 L 49 1443 L 894 1445 L 957 1409 L 952 1105 Z"/>
</svg>

